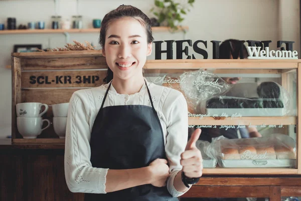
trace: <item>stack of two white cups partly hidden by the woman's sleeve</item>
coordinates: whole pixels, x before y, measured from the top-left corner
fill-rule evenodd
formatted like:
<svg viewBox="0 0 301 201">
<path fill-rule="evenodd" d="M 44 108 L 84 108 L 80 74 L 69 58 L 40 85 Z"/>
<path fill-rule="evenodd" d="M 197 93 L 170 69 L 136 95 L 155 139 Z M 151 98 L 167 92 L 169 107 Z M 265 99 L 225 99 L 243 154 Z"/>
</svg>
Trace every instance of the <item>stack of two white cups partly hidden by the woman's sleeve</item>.
<svg viewBox="0 0 301 201">
<path fill-rule="evenodd" d="M 54 132 L 65 138 L 69 103 L 52 105 Z"/>
</svg>

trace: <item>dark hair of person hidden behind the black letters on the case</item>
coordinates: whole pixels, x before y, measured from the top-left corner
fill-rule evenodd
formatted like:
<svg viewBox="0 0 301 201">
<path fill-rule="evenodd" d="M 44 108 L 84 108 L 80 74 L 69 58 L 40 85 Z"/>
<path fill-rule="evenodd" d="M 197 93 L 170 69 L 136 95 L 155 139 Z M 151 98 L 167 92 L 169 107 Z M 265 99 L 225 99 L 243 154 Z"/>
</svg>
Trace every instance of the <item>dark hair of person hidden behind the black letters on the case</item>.
<svg viewBox="0 0 301 201">
<path fill-rule="evenodd" d="M 246 46 L 243 44 L 244 41 L 235 39 L 229 39 L 222 42 L 219 49 L 220 59 L 230 59 L 232 55 L 233 59 L 245 59 L 248 57 L 248 51 Z"/>
</svg>

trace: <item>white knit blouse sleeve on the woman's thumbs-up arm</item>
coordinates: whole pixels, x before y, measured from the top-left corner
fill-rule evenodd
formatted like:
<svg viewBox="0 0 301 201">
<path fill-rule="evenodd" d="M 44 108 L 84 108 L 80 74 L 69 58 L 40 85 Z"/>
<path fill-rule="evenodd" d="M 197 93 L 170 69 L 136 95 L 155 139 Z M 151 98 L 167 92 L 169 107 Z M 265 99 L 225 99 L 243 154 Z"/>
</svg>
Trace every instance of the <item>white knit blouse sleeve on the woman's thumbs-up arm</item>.
<svg viewBox="0 0 301 201">
<path fill-rule="evenodd" d="M 176 91 L 176 97 L 170 95 L 172 103 L 165 103 L 164 110 L 167 114 L 167 139 L 166 156 L 170 165 L 170 176 L 167 180 L 167 188 L 171 195 L 178 197 L 185 192 L 179 192 L 174 186 L 176 175 L 182 170 L 180 164 L 181 154 L 185 151 L 188 141 L 188 109 L 184 95 Z"/>
</svg>

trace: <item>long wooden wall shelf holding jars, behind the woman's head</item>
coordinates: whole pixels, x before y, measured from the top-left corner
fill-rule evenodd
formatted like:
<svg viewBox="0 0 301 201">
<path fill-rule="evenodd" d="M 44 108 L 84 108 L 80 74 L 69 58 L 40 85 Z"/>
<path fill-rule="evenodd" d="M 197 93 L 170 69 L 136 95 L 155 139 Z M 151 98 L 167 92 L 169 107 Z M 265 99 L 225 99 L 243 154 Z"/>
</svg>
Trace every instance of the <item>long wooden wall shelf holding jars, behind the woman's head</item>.
<svg viewBox="0 0 301 201">
<path fill-rule="evenodd" d="M 153 32 L 170 31 L 169 27 L 152 27 Z M 187 26 L 179 27 L 179 31 L 188 30 Z M 1 34 L 51 34 L 51 33 L 99 33 L 100 29 L 21 29 L 21 30 L 2 30 Z"/>
</svg>

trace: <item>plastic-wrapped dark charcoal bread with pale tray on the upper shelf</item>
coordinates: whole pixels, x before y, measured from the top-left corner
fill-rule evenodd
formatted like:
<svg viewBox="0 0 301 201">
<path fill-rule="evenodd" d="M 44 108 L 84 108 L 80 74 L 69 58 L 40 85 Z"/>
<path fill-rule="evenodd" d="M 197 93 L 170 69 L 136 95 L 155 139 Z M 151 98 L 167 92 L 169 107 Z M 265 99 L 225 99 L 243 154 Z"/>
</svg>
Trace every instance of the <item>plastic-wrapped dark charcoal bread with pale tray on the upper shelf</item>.
<svg viewBox="0 0 301 201">
<path fill-rule="evenodd" d="M 276 82 L 257 84 L 237 83 L 223 96 L 207 100 L 206 114 L 232 114 L 241 116 L 285 116 L 292 114 L 292 98 L 286 89 Z"/>
</svg>

